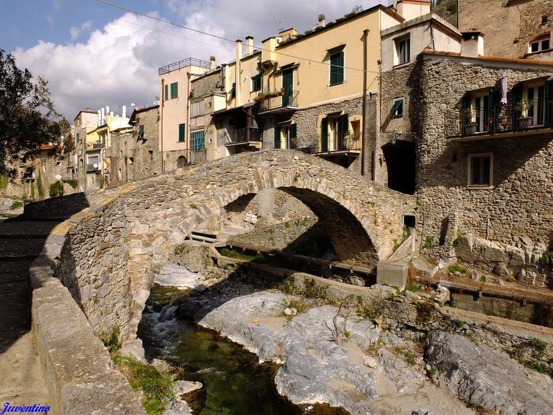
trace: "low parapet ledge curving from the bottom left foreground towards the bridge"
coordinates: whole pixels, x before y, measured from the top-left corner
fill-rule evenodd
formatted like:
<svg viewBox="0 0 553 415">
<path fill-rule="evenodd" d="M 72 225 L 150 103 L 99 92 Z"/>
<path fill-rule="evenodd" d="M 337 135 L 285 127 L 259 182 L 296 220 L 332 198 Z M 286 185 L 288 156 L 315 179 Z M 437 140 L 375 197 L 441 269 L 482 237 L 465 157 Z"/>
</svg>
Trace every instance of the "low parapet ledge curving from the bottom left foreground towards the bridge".
<svg viewBox="0 0 553 415">
<path fill-rule="evenodd" d="M 106 201 L 105 204 L 109 203 Z M 91 210 L 87 210 L 91 214 Z M 73 219 L 83 219 L 77 213 Z M 137 394 L 93 333 L 68 289 L 55 277 L 65 235 L 75 221 L 57 225 L 30 266 L 32 335 L 53 403 L 53 414 L 145 415 Z"/>
</svg>

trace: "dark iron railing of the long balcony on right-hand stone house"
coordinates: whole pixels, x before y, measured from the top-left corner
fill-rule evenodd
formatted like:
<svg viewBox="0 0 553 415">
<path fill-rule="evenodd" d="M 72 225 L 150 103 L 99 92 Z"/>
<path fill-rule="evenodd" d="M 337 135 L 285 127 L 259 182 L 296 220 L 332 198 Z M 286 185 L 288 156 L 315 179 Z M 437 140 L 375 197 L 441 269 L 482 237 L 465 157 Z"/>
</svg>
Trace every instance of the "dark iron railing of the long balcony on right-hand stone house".
<svg viewBox="0 0 553 415">
<path fill-rule="evenodd" d="M 553 127 L 553 100 L 543 98 L 498 104 L 490 108 L 451 111 L 445 118 L 445 136 L 493 135 Z"/>
</svg>

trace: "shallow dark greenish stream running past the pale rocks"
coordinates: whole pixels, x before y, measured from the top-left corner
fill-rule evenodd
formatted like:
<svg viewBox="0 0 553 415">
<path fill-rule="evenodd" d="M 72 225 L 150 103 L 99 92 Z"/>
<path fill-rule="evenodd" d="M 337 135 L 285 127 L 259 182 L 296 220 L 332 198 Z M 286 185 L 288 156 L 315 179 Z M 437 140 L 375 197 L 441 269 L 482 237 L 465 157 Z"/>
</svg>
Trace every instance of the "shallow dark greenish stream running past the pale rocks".
<svg viewBox="0 0 553 415">
<path fill-rule="evenodd" d="M 277 365 L 259 365 L 257 356 L 240 345 L 178 318 L 176 301 L 189 292 L 155 284 L 138 335 L 147 358 L 169 360 L 182 368 L 179 378 L 203 384 L 185 396 L 194 415 L 347 414 L 328 405 L 293 405 L 274 386 Z"/>
</svg>

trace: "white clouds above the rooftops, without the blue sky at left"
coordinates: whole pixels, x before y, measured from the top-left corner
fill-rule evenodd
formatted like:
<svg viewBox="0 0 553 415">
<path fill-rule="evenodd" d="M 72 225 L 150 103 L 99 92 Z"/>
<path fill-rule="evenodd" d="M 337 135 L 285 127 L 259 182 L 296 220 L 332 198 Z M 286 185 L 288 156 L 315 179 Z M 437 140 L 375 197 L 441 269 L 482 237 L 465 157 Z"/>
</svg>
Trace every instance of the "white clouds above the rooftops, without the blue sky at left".
<svg viewBox="0 0 553 415">
<path fill-rule="evenodd" d="M 359 3 L 368 8 L 377 2 L 281 0 L 263 4 L 249 0 L 165 0 L 165 6 L 171 11 L 167 17 L 171 21 L 228 39 L 252 35 L 259 45 L 261 39 L 275 35 L 279 28 L 294 26 L 303 32 L 316 23 L 320 13 L 325 13 L 329 21 Z M 165 64 L 189 56 L 209 60 L 209 56 L 215 55 L 218 63 L 234 57 L 232 43 L 131 13 L 102 29 L 90 31 L 91 28 L 90 21 L 71 28 L 73 42 L 89 33 L 82 43 L 57 45 L 39 41 L 32 48 L 17 48 L 13 53 L 18 66 L 29 68 L 33 75 L 43 75 L 49 81 L 57 109 L 70 121 L 86 107 L 95 110 L 109 105 L 117 110 L 131 102 L 138 106 L 151 104 L 159 93 L 158 68 Z"/>
</svg>

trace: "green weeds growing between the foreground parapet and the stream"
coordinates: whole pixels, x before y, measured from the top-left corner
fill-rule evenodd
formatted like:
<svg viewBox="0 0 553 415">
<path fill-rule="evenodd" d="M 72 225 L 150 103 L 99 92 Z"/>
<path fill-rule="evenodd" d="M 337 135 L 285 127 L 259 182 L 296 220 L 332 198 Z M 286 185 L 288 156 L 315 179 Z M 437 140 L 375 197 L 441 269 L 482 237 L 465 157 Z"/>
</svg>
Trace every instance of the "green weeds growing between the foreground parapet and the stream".
<svg viewBox="0 0 553 415">
<path fill-rule="evenodd" d="M 114 326 L 111 333 L 103 333 L 100 340 L 108 348 L 111 359 L 122 371 L 135 391 L 142 391 L 142 405 L 149 415 L 162 415 L 165 406 L 174 398 L 174 380 L 170 374 L 160 374 L 153 366 L 147 365 L 131 356 L 122 356 L 119 352 L 119 327 Z"/>
</svg>

